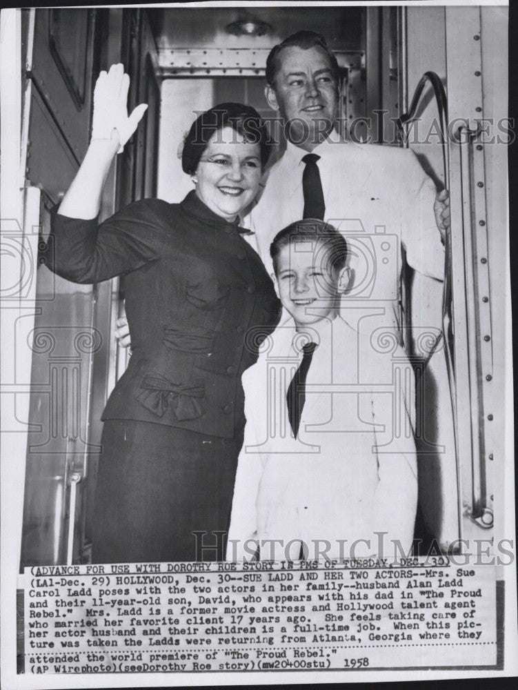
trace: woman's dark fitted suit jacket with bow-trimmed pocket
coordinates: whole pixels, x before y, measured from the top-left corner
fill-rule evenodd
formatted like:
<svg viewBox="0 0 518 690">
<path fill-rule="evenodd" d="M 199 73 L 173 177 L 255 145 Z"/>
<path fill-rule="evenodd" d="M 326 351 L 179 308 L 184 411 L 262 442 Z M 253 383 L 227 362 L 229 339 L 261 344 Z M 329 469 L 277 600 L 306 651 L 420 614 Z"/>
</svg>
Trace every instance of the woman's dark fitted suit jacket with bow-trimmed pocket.
<svg viewBox="0 0 518 690">
<path fill-rule="evenodd" d="M 181 204 L 137 201 L 100 225 L 52 214 L 51 270 L 77 283 L 125 275 L 133 353 L 103 420 L 219 437 L 243 426 L 241 374 L 280 303 L 238 229 L 194 192 Z"/>
</svg>

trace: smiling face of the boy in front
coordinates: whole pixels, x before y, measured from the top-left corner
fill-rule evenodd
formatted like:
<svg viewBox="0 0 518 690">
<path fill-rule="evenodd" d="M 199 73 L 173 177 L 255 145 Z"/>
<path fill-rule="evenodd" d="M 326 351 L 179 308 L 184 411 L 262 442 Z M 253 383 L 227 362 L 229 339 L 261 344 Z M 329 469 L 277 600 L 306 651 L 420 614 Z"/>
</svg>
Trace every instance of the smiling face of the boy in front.
<svg viewBox="0 0 518 690">
<path fill-rule="evenodd" d="M 283 246 L 275 257 L 275 284 L 283 306 L 297 326 L 333 319 L 349 282 L 349 269 L 335 270 L 330 251 L 320 240 Z"/>
</svg>

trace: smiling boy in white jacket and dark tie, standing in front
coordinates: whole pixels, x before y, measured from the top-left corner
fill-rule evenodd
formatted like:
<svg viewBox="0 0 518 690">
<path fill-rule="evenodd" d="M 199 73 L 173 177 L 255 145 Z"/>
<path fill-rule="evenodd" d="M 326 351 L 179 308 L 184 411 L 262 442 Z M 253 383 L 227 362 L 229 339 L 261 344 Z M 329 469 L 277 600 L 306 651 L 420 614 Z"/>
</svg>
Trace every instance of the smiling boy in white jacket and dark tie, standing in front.
<svg viewBox="0 0 518 690">
<path fill-rule="evenodd" d="M 410 363 L 395 334 L 370 333 L 368 313 L 340 307 L 349 270 L 335 228 L 297 221 L 270 254 L 289 318 L 243 375 L 227 559 L 387 557 L 394 540 L 408 553 L 417 505 Z"/>
</svg>

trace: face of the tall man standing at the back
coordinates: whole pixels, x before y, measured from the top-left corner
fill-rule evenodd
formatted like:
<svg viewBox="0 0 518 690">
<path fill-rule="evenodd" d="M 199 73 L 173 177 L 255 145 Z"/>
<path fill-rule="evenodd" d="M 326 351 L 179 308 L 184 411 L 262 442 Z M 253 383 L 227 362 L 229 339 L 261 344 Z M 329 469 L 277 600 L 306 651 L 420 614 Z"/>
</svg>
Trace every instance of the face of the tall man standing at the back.
<svg viewBox="0 0 518 690">
<path fill-rule="evenodd" d="M 269 105 L 291 121 L 286 135 L 311 151 L 326 139 L 337 115 L 338 84 L 326 52 L 318 46 L 284 48 L 277 56 L 275 86 L 266 86 Z"/>
</svg>

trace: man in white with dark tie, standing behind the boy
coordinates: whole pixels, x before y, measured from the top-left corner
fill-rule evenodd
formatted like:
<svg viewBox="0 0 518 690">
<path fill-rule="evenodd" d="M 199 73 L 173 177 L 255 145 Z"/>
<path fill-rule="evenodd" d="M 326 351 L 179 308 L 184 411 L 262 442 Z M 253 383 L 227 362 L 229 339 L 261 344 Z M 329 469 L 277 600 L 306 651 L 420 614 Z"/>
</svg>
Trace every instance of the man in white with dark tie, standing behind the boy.
<svg viewBox="0 0 518 690">
<path fill-rule="evenodd" d="M 317 155 L 325 206 L 321 219 L 340 230 L 350 248 L 348 306 L 354 297 L 362 314 L 374 317 L 372 330 L 396 326 L 400 332 L 401 248 L 412 268 L 443 279 L 438 227 L 444 231 L 449 223 L 444 220 L 447 195 L 436 200 L 435 185 L 411 150 L 339 137 L 334 129 L 338 64 L 320 34 L 301 31 L 275 46 L 266 79 L 266 99 L 279 112 L 288 144 L 248 217 L 261 259 L 271 273 L 268 249 L 273 237 L 279 228 L 308 216 L 303 158 L 308 152 Z"/>
</svg>

